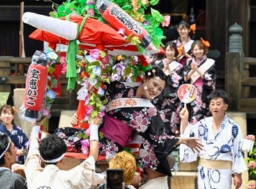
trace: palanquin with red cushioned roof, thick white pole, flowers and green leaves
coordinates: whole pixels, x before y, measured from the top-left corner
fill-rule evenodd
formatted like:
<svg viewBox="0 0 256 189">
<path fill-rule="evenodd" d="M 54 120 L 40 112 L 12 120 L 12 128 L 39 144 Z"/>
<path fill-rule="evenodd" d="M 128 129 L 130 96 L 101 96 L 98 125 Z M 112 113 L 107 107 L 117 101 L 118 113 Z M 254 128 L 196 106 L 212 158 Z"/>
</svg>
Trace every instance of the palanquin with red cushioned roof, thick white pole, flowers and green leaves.
<svg viewBox="0 0 256 189">
<path fill-rule="evenodd" d="M 142 73 L 150 68 L 151 54 L 163 52 L 161 24 L 168 26 L 170 17 L 150 8 L 157 3 L 158 0 L 68 0 L 53 4 L 50 17 L 24 13 L 23 22 L 37 28 L 29 38 L 48 42 L 53 50 L 59 43 L 68 45 L 67 90 L 73 90 L 76 83 L 81 85 L 77 97 L 79 123 L 74 128 L 87 129 L 89 117 L 105 115 L 109 107 L 108 100 L 102 100 L 105 82 L 118 74 L 124 82 L 140 82 Z M 146 14 L 149 8 L 150 13 Z M 114 68 L 117 63 L 123 65 L 120 73 Z M 86 132 L 79 135 L 79 140 L 80 153 L 86 154 Z"/>
</svg>

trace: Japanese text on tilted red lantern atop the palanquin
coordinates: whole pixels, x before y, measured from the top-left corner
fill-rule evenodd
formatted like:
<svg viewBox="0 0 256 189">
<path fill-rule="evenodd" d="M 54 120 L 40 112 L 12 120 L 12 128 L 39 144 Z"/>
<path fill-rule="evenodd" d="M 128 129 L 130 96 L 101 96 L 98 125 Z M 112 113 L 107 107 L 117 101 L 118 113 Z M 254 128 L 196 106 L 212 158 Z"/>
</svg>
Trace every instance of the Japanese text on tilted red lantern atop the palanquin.
<svg viewBox="0 0 256 189">
<path fill-rule="evenodd" d="M 142 33 L 140 27 L 134 20 L 132 20 L 129 15 L 126 15 L 124 11 L 120 10 L 117 6 L 112 6 L 110 9 L 110 15 L 116 17 L 116 19 L 122 23 L 127 29 L 134 31 L 134 33 L 140 35 Z"/>
</svg>

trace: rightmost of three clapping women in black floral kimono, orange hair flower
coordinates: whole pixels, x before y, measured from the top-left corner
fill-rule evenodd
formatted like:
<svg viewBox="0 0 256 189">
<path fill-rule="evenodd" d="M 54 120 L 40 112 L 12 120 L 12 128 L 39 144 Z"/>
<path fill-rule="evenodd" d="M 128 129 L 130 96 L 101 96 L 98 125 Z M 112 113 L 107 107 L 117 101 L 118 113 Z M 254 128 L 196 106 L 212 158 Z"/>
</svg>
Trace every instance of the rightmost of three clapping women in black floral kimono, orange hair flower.
<svg viewBox="0 0 256 189">
<path fill-rule="evenodd" d="M 209 112 L 208 96 L 215 91 L 215 61 L 206 56 L 209 42 L 196 40 L 191 46 L 192 59 L 184 65 L 184 80 L 197 89 L 196 99 L 188 104 L 189 123 L 195 124 L 207 116 Z"/>
</svg>

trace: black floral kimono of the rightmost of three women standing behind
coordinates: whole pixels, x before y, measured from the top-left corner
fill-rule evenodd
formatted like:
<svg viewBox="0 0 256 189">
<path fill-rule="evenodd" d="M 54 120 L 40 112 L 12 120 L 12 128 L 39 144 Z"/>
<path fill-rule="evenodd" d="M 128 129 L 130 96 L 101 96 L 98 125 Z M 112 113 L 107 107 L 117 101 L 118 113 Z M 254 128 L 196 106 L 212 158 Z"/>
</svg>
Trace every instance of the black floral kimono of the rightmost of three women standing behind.
<svg viewBox="0 0 256 189">
<path fill-rule="evenodd" d="M 194 59 L 194 57 L 193 57 Z M 184 65 L 184 80 L 186 83 L 191 83 L 191 80 L 186 80 L 186 75 L 191 70 L 191 63 L 193 59 L 189 59 Z M 207 56 L 204 55 L 201 59 L 198 68 L 207 61 Z M 198 82 L 200 80 L 200 82 Z M 195 84 L 201 83 L 201 84 Z M 196 86 L 197 96 L 196 99 L 187 105 L 189 110 L 189 123 L 195 124 L 199 120 L 207 117 L 209 112 L 209 102 L 207 96 L 209 96 L 216 87 L 216 70 L 215 64 L 213 64 L 208 70 L 204 73 L 204 79 L 199 77 L 193 85 Z"/>
</svg>

